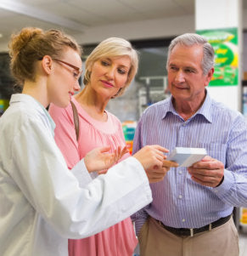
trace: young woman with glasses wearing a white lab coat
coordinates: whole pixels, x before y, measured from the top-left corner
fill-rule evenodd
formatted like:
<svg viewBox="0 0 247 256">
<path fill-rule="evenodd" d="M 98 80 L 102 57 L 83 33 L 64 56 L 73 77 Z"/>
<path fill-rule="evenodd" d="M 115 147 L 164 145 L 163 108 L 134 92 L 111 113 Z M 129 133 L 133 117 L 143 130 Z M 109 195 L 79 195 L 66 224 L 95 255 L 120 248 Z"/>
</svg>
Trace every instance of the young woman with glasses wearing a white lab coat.
<svg viewBox="0 0 247 256">
<path fill-rule="evenodd" d="M 69 171 L 46 108 L 66 107 L 79 89 L 80 47 L 61 31 L 25 28 L 9 54 L 23 90 L 0 118 L 0 255 L 65 256 L 68 238 L 92 236 L 151 201 L 146 174 L 165 175 L 166 150 L 149 146 L 109 168 L 121 150 L 101 147 Z"/>
</svg>

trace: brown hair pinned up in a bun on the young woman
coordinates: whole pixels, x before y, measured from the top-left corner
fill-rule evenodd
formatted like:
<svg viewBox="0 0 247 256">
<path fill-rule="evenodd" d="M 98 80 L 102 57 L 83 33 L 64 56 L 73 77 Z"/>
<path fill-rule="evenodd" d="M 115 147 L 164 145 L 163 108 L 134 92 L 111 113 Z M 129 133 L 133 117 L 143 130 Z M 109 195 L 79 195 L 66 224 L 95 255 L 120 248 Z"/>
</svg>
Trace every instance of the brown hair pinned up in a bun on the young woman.
<svg viewBox="0 0 247 256">
<path fill-rule="evenodd" d="M 25 79 L 34 82 L 36 61 L 42 60 L 44 55 L 59 58 L 65 47 L 70 47 L 81 55 L 81 47 L 76 40 L 63 31 L 23 28 L 19 33 L 13 34 L 8 43 L 12 75 L 21 86 Z"/>
</svg>

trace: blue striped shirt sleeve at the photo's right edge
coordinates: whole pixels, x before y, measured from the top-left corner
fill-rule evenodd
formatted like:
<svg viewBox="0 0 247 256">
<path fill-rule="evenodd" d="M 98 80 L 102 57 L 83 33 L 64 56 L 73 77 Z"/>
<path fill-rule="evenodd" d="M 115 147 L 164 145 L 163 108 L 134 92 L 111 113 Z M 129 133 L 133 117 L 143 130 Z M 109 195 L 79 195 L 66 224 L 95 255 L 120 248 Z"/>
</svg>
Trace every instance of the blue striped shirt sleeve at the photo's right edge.
<svg viewBox="0 0 247 256">
<path fill-rule="evenodd" d="M 213 191 L 223 202 L 247 207 L 247 124 L 240 116 L 233 122 L 227 141 L 226 168 L 222 185 Z"/>
</svg>

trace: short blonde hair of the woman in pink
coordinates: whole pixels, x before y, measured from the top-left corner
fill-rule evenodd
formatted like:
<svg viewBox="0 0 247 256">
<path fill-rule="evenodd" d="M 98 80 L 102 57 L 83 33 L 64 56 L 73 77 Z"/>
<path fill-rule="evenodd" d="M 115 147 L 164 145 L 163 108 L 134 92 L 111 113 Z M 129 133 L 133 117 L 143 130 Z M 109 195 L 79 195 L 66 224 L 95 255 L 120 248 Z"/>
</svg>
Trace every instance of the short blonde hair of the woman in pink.
<svg viewBox="0 0 247 256">
<path fill-rule="evenodd" d="M 110 58 L 125 55 L 129 56 L 131 59 L 131 68 L 128 72 L 125 87 L 121 88 L 121 90 L 118 92 L 118 94 L 115 95 L 115 97 L 123 94 L 138 72 L 138 52 L 134 48 L 132 48 L 132 44 L 130 42 L 126 41 L 123 38 L 109 37 L 108 39 L 105 39 L 104 41 L 99 43 L 98 46 L 93 49 L 93 52 L 88 55 L 85 63 L 86 70 L 83 77 L 84 84 L 87 85 L 87 83 L 90 82 L 90 70 L 95 61 L 105 57 Z"/>
</svg>

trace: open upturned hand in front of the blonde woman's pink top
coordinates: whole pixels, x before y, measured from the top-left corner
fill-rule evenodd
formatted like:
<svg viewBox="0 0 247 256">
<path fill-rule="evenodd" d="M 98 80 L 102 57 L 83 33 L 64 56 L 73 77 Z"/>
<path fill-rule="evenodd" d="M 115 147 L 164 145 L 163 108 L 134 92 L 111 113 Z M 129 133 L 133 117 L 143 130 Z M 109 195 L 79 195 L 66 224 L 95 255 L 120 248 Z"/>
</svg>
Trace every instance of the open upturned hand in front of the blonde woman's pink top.
<svg viewBox="0 0 247 256">
<path fill-rule="evenodd" d="M 108 168 L 119 161 L 121 157 L 126 154 L 127 149 L 124 147 L 118 147 L 114 153 L 107 153 L 110 150 L 109 146 L 98 147 L 93 151 L 89 151 L 84 158 L 87 171 L 89 173 L 100 171 L 99 173 L 105 173 Z"/>
</svg>

